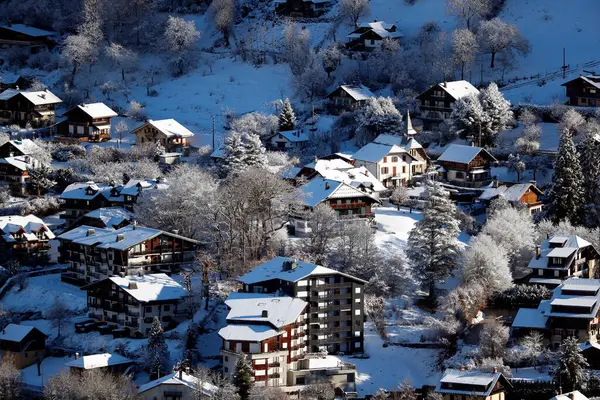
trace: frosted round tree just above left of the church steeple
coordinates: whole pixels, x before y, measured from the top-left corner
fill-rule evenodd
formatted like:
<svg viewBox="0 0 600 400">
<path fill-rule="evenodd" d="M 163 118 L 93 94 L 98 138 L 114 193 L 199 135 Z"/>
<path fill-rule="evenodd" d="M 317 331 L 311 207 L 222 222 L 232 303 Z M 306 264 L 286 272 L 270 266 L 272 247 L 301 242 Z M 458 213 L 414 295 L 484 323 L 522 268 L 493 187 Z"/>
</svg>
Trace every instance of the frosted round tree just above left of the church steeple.
<svg viewBox="0 0 600 400">
<path fill-rule="evenodd" d="M 356 112 L 358 133 L 368 143 L 381 133 L 400 134 L 404 128 L 402 115 L 389 97 L 370 98 Z"/>
</svg>

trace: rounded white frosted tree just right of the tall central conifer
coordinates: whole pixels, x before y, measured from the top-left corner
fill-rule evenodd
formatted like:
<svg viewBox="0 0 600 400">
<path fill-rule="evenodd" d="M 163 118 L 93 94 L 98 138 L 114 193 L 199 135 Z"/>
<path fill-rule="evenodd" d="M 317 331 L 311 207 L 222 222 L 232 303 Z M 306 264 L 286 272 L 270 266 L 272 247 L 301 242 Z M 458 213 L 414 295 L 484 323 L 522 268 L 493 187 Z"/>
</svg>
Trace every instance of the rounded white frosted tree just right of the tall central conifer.
<svg viewBox="0 0 600 400">
<path fill-rule="evenodd" d="M 493 293 L 502 292 L 512 285 L 508 255 L 491 236 L 479 234 L 471 240 L 463 256 L 462 279 L 476 282 Z"/>
</svg>

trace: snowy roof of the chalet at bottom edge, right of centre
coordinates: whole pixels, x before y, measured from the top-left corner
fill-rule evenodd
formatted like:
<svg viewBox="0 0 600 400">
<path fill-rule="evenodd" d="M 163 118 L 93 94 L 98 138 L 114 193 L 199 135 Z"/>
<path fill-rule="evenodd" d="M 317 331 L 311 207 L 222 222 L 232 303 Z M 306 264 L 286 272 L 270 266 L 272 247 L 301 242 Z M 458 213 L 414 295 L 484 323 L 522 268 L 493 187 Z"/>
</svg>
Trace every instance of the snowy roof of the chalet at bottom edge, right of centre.
<svg viewBox="0 0 600 400">
<path fill-rule="evenodd" d="M 447 369 L 435 391 L 446 394 L 489 396 L 501 376 L 500 372 Z"/>
</svg>

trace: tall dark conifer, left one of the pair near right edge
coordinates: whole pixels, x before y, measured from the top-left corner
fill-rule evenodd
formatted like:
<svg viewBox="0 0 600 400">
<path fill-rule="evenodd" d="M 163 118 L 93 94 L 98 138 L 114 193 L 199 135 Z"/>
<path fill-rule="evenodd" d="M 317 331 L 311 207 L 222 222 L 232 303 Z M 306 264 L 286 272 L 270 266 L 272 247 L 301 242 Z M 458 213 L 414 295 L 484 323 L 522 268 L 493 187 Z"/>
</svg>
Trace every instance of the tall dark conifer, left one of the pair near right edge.
<svg viewBox="0 0 600 400">
<path fill-rule="evenodd" d="M 583 175 L 579 153 L 568 131 L 562 132 L 560 137 L 548 198 L 548 213 L 552 222 L 558 224 L 565 219 L 574 225 L 581 222 Z"/>
</svg>

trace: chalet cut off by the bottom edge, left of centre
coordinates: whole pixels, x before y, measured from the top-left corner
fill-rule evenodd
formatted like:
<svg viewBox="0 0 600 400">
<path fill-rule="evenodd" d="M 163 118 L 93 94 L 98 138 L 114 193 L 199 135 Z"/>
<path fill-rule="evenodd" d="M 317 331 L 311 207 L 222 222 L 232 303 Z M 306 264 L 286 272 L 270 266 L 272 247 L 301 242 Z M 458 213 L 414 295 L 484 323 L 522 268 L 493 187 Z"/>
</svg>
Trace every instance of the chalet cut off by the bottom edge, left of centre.
<svg viewBox="0 0 600 400">
<path fill-rule="evenodd" d="M 140 386 L 136 398 L 140 400 L 191 400 L 198 398 L 198 395 L 213 398 L 218 390 L 219 388 L 212 383 L 203 381 L 180 369 L 143 384 Z"/>
</svg>

